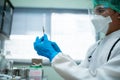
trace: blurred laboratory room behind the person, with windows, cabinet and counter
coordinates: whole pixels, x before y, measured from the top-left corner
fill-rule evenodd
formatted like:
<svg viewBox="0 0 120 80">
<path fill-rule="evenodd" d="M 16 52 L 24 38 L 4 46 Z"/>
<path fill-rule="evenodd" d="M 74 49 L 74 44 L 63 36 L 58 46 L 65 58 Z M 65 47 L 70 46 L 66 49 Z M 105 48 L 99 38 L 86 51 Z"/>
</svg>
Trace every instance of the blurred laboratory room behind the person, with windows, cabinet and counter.
<svg viewBox="0 0 120 80">
<path fill-rule="evenodd" d="M 33 42 L 47 34 L 80 64 L 104 36 L 95 33 L 92 8 L 91 0 L 0 0 L 0 80 L 64 80 Z"/>
</svg>

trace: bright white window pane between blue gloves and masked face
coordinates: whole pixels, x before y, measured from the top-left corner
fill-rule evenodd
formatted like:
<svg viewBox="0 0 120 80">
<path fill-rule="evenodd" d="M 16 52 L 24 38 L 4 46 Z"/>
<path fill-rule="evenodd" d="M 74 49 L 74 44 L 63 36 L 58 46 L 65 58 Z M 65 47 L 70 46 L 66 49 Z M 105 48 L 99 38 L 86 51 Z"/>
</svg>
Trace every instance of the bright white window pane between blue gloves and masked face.
<svg viewBox="0 0 120 80">
<path fill-rule="evenodd" d="M 87 14 L 53 13 L 51 34 L 63 53 L 73 59 L 83 59 L 95 42 L 94 28 Z"/>
</svg>

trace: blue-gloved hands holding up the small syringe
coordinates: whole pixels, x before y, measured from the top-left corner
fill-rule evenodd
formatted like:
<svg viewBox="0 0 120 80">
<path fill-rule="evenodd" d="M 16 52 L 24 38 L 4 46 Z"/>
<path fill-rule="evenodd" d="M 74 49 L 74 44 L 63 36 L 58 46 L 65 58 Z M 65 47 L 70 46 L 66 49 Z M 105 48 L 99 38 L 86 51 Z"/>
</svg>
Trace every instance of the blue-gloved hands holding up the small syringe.
<svg viewBox="0 0 120 80">
<path fill-rule="evenodd" d="M 40 39 L 36 38 L 34 49 L 39 55 L 49 58 L 50 61 L 61 51 L 56 43 L 48 40 L 46 34 Z"/>
</svg>

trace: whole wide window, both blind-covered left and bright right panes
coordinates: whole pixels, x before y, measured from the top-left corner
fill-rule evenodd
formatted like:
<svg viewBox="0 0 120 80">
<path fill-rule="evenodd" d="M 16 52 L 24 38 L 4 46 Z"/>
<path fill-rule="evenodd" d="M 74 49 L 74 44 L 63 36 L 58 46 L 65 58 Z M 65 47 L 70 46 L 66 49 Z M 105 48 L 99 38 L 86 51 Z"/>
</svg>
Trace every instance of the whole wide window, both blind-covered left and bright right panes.
<svg viewBox="0 0 120 80">
<path fill-rule="evenodd" d="M 31 59 L 38 56 L 33 48 L 36 36 L 42 36 L 45 24 L 49 39 L 55 41 L 63 53 L 73 59 L 83 59 L 88 48 L 95 42 L 94 28 L 87 14 L 70 11 L 19 10 L 14 12 L 11 39 L 5 41 L 5 50 L 10 51 L 8 58 Z M 45 22 L 44 22 L 45 21 Z M 41 26 L 41 27 L 40 27 Z M 18 28 L 17 28 L 18 27 Z"/>
</svg>

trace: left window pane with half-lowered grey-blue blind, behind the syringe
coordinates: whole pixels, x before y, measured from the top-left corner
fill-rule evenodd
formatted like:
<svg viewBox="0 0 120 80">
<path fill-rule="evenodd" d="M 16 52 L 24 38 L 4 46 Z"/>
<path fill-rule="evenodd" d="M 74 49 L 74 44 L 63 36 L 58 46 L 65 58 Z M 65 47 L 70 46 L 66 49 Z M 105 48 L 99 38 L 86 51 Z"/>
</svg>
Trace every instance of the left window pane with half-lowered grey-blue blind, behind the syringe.
<svg viewBox="0 0 120 80">
<path fill-rule="evenodd" d="M 36 36 L 42 36 L 42 27 L 50 35 L 49 13 L 39 9 L 15 9 L 10 40 L 5 41 L 5 50 L 10 59 L 43 58 L 33 48 Z M 46 27 L 47 26 L 47 27 Z M 45 58 L 46 59 L 46 58 Z"/>
</svg>

